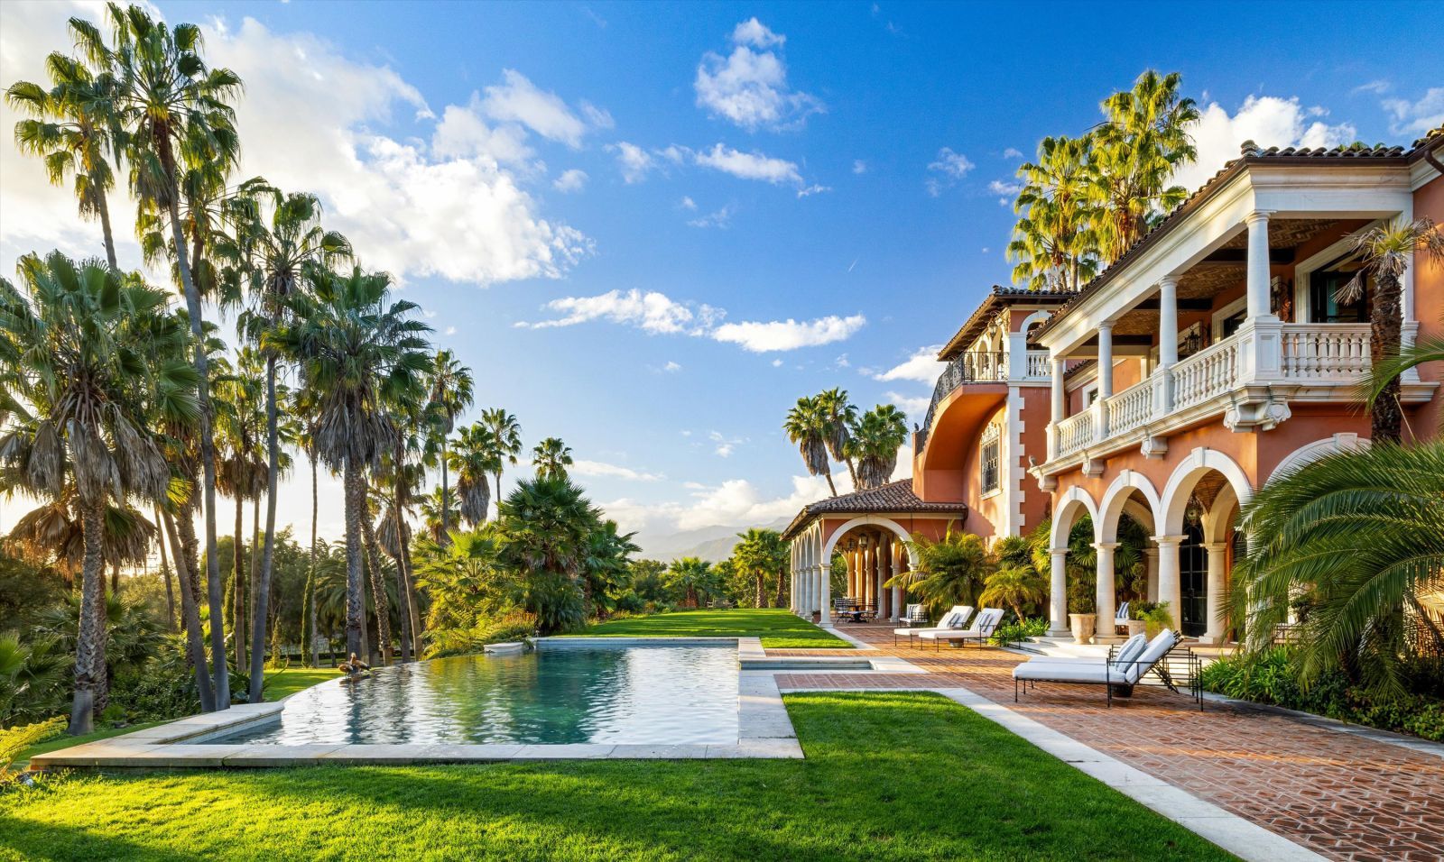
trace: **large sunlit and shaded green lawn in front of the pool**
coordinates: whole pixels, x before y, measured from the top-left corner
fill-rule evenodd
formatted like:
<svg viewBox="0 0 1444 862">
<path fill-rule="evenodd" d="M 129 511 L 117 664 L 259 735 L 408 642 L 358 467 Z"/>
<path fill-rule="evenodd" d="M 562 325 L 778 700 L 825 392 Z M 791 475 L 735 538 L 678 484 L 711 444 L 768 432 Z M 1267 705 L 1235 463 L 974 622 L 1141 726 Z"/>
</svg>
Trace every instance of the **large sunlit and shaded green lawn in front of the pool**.
<svg viewBox="0 0 1444 862">
<path fill-rule="evenodd" d="M 788 695 L 801 761 L 309 767 L 0 793 L 0 859 L 1229 859 L 923 692 Z"/>
</svg>

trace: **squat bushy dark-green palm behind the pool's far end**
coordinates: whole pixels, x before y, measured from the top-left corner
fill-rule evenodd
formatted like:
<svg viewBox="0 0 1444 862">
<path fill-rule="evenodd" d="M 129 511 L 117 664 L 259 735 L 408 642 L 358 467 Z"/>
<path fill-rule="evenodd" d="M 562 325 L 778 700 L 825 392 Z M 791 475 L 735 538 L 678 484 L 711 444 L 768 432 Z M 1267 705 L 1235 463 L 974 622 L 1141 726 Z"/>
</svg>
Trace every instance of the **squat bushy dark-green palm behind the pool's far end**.
<svg viewBox="0 0 1444 862">
<path fill-rule="evenodd" d="M 588 541 L 601 517 L 565 474 L 517 483 L 497 517 L 505 536 L 501 564 L 521 575 L 524 607 L 552 634 L 585 620 L 582 587 Z"/>
</svg>

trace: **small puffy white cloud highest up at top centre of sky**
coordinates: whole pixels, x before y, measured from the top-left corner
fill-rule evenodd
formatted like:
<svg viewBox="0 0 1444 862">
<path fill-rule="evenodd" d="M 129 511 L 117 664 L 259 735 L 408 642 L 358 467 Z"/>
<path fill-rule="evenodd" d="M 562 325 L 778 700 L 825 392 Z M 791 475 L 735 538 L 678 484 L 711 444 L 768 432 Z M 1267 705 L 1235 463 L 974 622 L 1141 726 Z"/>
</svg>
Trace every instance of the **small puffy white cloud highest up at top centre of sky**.
<svg viewBox="0 0 1444 862">
<path fill-rule="evenodd" d="M 799 128 L 810 114 L 820 114 L 823 104 L 787 84 L 787 63 L 773 48 L 786 36 L 767 29 L 755 17 L 732 32 L 732 53 L 708 52 L 697 63 L 693 89 L 697 107 L 731 123 L 757 128 Z"/>
</svg>

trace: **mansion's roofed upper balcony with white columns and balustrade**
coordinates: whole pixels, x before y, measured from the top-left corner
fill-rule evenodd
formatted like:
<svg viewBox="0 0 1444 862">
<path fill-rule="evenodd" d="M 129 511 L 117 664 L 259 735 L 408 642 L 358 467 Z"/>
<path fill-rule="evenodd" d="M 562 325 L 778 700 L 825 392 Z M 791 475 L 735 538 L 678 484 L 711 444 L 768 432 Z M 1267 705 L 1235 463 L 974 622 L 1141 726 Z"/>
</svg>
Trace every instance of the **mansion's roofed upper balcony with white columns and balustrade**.
<svg viewBox="0 0 1444 862">
<path fill-rule="evenodd" d="M 1411 182 L 1382 150 L 1230 163 L 1037 333 L 1053 381 L 1037 473 L 1099 474 L 1100 458 L 1162 457 L 1170 434 L 1203 422 L 1269 431 L 1301 404 L 1356 402 L 1375 285 L 1353 303 L 1339 288 L 1362 267 L 1354 238 L 1412 213 Z M 1401 306 L 1409 343 L 1411 274 Z M 1417 373 L 1402 383 L 1405 402 L 1435 388 Z"/>
</svg>

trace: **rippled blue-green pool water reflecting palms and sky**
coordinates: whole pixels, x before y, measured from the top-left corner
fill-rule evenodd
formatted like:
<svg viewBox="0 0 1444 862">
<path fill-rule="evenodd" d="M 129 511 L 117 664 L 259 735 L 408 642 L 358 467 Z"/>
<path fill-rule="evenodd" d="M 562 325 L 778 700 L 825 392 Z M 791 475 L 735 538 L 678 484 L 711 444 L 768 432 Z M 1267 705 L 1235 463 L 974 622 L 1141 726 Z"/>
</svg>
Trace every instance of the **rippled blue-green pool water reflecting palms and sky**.
<svg viewBox="0 0 1444 862">
<path fill-rule="evenodd" d="M 206 742 L 735 744 L 736 647 L 556 647 L 461 656 L 325 682 L 280 724 Z"/>
</svg>

